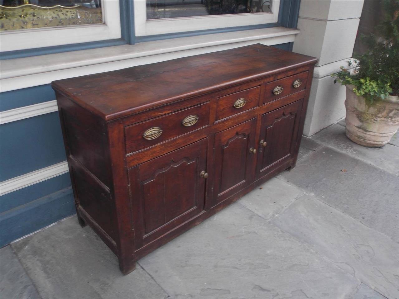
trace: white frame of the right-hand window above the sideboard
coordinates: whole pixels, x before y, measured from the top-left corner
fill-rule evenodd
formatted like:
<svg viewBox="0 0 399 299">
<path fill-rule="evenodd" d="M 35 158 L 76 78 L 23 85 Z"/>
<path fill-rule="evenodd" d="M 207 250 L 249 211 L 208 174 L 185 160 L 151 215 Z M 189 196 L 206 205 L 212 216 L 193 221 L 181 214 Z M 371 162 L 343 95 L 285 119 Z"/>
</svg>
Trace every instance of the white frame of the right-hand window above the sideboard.
<svg viewBox="0 0 399 299">
<path fill-rule="evenodd" d="M 146 0 L 133 2 L 136 36 L 277 23 L 280 8 L 280 0 L 273 0 L 272 12 L 147 20 Z"/>
</svg>

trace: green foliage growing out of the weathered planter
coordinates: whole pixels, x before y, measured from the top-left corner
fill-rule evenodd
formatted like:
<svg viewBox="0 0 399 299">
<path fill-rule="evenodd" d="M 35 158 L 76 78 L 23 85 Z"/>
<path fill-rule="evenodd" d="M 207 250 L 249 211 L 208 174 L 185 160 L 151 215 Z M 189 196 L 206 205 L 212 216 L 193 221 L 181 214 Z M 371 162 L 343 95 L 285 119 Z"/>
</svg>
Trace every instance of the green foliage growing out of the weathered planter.
<svg viewBox="0 0 399 299">
<path fill-rule="evenodd" d="M 381 3 L 385 20 L 377 27 L 380 37 L 362 35 L 368 51 L 348 61 L 349 66 L 354 67 L 352 73 L 341 67 L 340 72 L 332 74 L 334 83 L 354 85 L 354 92 L 370 102 L 399 94 L 399 0 Z"/>
</svg>

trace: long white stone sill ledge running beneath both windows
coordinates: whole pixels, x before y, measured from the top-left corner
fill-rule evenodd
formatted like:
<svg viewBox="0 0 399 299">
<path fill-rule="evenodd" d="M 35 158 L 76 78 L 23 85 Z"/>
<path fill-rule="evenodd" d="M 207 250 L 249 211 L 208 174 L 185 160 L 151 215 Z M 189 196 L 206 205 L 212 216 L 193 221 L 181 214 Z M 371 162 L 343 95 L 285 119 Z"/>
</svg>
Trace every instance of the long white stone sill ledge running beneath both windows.
<svg viewBox="0 0 399 299">
<path fill-rule="evenodd" d="M 148 41 L 144 43 L 137 43 L 135 45 L 119 45 L 97 49 L 40 55 L 36 57 L 8 59 L 1 62 L 0 79 L 48 73 L 63 69 L 97 65 L 100 63 L 122 61 L 126 59 L 160 55 L 190 49 L 212 47 L 216 45 L 295 35 L 299 32 L 300 31 L 297 29 L 273 27 Z"/>
</svg>

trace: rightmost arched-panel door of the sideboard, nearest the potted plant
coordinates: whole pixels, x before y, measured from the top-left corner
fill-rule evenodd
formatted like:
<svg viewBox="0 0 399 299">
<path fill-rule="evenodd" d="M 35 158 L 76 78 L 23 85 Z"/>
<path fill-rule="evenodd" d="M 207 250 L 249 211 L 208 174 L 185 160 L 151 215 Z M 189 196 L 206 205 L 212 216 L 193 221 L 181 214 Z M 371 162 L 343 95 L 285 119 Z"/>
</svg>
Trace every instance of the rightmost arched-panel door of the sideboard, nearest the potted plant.
<svg viewBox="0 0 399 299">
<path fill-rule="evenodd" d="M 257 177 L 266 175 L 295 152 L 302 100 L 263 114 L 257 162 Z"/>
</svg>

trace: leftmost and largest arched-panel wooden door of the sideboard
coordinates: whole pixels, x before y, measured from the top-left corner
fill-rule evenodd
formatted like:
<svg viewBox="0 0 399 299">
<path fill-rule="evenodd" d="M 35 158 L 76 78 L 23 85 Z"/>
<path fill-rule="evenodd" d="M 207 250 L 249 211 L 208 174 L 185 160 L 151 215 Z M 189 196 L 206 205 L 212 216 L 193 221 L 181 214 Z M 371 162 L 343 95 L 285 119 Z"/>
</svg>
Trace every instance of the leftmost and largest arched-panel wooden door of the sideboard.
<svg viewBox="0 0 399 299">
<path fill-rule="evenodd" d="M 204 209 L 207 138 L 129 169 L 136 250 Z"/>
</svg>

